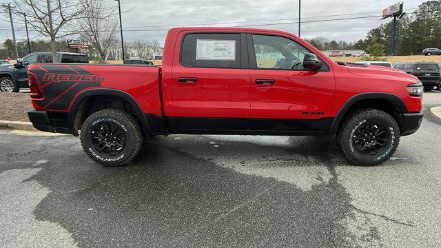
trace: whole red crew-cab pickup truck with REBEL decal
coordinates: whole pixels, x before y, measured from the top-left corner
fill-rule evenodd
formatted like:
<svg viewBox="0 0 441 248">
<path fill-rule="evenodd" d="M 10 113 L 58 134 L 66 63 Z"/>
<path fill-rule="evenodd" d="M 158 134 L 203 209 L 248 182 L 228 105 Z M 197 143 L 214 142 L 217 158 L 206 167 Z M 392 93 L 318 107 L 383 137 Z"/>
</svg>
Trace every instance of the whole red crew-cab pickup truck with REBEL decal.
<svg viewBox="0 0 441 248">
<path fill-rule="evenodd" d="M 174 28 L 161 66 L 33 63 L 29 79 L 34 127 L 80 136 L 106 166 L 158 134 L 329 136 L 349 161 L 377 165 L 423 117 L 415 76 L 334 63 L 276 30 Z"/>
</svg>

